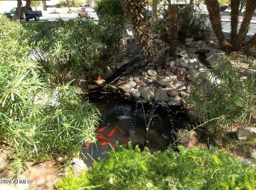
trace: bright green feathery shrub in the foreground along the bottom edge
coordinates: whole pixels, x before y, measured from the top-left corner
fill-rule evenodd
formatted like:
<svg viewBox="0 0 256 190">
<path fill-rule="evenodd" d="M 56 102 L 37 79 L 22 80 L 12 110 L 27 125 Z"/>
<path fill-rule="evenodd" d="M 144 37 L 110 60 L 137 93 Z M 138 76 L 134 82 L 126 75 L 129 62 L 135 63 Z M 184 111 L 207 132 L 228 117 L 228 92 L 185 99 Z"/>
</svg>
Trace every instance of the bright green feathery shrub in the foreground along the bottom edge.
<svg viewBox="0 0 256 190">
<path fill-rule="evenodd" d="M 199 148 L 179 147 L 150 154 L 128 146 L 107 152 L 109 159 L 94 163 L 94 168 L 80 178 L 69 174 L 58 182 L 60 190 L 213 190 L 254 189 L 256 172 L 250 166 L 237 163 L 225 153 L 212 154 Z"/>
</svg>

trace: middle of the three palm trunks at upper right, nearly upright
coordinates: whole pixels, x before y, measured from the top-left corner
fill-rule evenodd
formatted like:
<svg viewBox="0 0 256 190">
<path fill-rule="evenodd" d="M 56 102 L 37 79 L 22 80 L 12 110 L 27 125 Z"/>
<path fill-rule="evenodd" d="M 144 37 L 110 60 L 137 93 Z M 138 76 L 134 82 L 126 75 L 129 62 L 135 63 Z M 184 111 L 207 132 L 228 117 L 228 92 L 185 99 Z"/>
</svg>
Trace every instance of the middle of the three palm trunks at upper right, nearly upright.
<svg viewBox="0 0 256 190">
<path fill-rule="evenodd" d="M 236 39 L 240 0 L 231 0 L 231 43 Z"/>
</svg>

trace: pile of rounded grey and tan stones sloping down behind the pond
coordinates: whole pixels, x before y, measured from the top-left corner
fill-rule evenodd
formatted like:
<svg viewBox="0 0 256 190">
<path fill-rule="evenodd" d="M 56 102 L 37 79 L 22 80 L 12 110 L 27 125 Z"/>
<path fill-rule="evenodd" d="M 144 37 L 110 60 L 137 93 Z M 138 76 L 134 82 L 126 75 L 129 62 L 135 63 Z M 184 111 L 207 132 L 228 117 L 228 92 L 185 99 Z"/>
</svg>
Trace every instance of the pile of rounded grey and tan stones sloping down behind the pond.
<svg viewBox="0 0 256 190">
<path fill-rule="evenodd" d="M 205 59 L 210 65 L 218 65 L 225 54 L 215 49 L 214 43 L 206 44 L 192 39 L 186 41 L 185 46 L 177 48 L 179 58 L 175 61 L 167 61 L 164 66 L 159 67 L 147 62 L 143 69 L 132 76 L 122 76 L 118 81 L 118 92 L 128 98 L 180 106 L 182 97 L 190 92 L 194 82 L 213 80 L 209 76 L 200 78 L 200 73 L 207 68 L 199 61 L 199 54 L 206 52 Z M 165 51 L 167 49 L 168 47 Z"/>
</svg>

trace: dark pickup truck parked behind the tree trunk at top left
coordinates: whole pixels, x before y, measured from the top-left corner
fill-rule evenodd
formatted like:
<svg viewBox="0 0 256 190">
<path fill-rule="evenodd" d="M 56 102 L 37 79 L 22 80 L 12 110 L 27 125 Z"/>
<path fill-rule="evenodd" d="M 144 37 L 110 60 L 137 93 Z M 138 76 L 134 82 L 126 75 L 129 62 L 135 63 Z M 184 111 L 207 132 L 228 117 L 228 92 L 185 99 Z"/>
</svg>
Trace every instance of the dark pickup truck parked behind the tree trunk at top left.
<svg viewBox="0 0 256 190">
<path fill-rule="evenodd" d="M 14 18 L 16 10 L 17 8 L 13 8 L 12 10 L 10 10 L 10 12 L 5 12 L 4 15 L 9 18 Z M 39 17 L 42 16 L 42 11 L 33 11 L 31 7 L 29 7 L 28 10 L 26 10 L 26 12 L 24 13 L 25 13 L 26 21 L 29 21 L 32 18 L 34 18 L 35 21 L 38 21 Z M 22 14 L 20 20 L 24 20 L 23 15 L 24 14 Z"/>
</svg>

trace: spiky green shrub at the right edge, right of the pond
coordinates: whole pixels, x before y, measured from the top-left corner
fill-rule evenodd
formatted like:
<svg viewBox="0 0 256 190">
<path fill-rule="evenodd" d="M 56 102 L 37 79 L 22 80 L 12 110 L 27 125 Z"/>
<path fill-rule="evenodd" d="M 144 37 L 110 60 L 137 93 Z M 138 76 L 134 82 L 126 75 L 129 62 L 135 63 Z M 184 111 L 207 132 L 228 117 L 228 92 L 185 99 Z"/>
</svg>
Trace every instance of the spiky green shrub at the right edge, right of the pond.
<svg viewBox="0 0 256 190">
<path fill-rule="evenodd" d="M 218 118 L 209 124 L 209 129 L 230 124 L 233 121 L 248 122 L 255 116 L 256 76 L 248 74 L 242 79 L 238 69 L 230 61 L 220 67 L 212 67 L 200 78 L 212 82 L 196 83 L 188 96 L 190 110 L 202 121 Z M 208 77 L 206 77 L 208 76 Z"/>
</svg>

